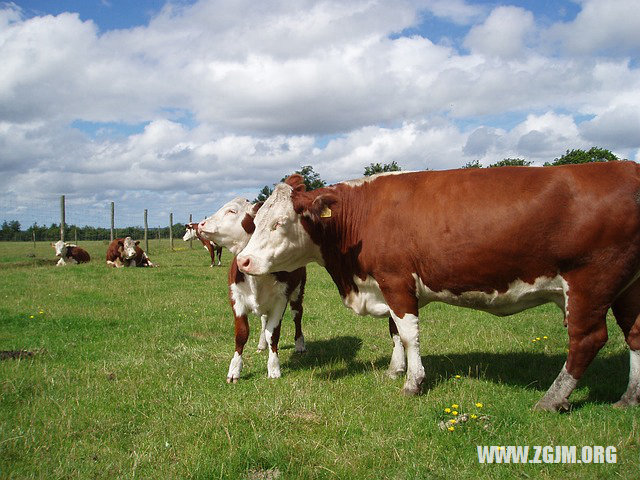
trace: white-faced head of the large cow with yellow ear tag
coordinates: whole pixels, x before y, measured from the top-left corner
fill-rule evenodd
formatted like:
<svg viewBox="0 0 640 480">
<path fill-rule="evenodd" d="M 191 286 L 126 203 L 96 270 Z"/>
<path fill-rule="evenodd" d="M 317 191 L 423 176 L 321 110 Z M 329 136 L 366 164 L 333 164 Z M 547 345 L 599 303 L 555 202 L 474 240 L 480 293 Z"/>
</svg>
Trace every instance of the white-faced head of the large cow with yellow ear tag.
<svg viewBox="0 0 640 480">
<path fill-rule="evenodd" d="M 264 275 L 292 272 L 312 261 L 322 265 L 320 247 L 311 239 L 309 228 L 328 218 L 333 202 L 335 198 L 330 193 L 306 192 L 303 179 L 297 174 L 278 184 L 256 214 L 255 231 L 238 255 L 240 270 Z"/>
</svg>

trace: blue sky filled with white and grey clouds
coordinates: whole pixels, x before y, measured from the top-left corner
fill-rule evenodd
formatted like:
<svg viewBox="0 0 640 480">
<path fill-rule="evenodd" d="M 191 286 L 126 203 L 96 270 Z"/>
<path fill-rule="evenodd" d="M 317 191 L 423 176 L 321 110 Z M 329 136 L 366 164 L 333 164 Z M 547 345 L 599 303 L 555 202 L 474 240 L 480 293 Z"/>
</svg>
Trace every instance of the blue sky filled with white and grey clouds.
<svg viewBox="0 0 640 480">
<path fill-rule="evenodd" d="M 79 224 L 199 219 L 303 165 L 640 161 L 637 0 L 0 1 L 0 65 L 23 227 L 62 194 Z"/>
</svg>

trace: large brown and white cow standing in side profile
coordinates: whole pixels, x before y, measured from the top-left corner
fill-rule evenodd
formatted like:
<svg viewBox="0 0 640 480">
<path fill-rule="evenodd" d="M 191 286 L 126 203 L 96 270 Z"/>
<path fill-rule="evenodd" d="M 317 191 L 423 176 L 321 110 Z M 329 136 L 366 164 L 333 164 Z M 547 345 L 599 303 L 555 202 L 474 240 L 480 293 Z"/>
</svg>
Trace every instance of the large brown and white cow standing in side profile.
<svg viewBox="0 0 640 480">
<path fill-rule="evenodd" d="M 441 301 L 510 315 L 543 303 L 565 315 L 569 354 L 536 408 L 561 410 L 607 341 L 609 308 L 630 347 L 616 406 L 640 403 L 640 166 L 633 162 L 378 175 L 306 192 L 292 175 L 238 255 L 264 275 L 324 265 L 346 306 L 387 316 L 401 344 L 391 372 L 424 379 L 418 309 Z"/>
</svg>

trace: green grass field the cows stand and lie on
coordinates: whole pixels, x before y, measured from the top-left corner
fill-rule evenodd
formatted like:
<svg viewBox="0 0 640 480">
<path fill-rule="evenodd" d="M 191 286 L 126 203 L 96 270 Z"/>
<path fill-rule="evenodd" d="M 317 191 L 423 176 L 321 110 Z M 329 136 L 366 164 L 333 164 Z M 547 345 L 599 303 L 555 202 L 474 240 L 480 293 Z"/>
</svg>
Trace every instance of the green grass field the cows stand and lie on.
<svg viewBox="0 0 640 480">
<path fill-rule="evenodd" d="M 407 398 L 385 376 L 387 321 L 344 308 L 310 265 L 307 352 L 294 352 L 287 312 L 282 378 L 267 379 L 252 318 L 242 378 L 228 385 L 228 252 L 209 268 L 201 247 L 154 240 L 158 268 L 115 270 L 106 243 L 81 246 L 90 264 L 56 268 L 48 244 L 0 243 L 0 350 L 32 353 L 0 360 L 0 478 L 638 478 L 640 409 L 610 405 L 629 365 L 612 318 L 573 410 L 551 414 L 532 406 L 566 357 L 556 307 L 497 318 L 429 305 L 427 382 Z M 445 408 L 479 418 L 442 430 Z M 575 445 L 578 458 L 613 445 L 617 463 L 486 465 L 477 445 Z"/>
</svg>

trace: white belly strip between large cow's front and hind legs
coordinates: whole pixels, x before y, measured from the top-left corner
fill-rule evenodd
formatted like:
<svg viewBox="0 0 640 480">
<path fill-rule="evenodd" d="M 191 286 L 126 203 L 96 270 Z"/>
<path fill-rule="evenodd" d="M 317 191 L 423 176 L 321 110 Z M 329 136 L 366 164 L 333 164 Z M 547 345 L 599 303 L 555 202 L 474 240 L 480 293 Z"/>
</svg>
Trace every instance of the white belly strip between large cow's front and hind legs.
<svg viewBox="0 0 640 480">
<path fill-rule="evenodd" d="M 504 316 L 549 302 L 555 303 L 565 311 L 567 304 L 568 285 L 560 275 L 539 277 L 533 283 L 514 280 L 505 292 L 470 291 L 460 295 L 454 295 L 448 290 L 434 292 L 416 274 L 413 274 L 413 278 L 416 280 L 416 295 L 420 306 L 439 301 Z"/>
</svg>

